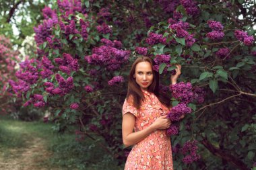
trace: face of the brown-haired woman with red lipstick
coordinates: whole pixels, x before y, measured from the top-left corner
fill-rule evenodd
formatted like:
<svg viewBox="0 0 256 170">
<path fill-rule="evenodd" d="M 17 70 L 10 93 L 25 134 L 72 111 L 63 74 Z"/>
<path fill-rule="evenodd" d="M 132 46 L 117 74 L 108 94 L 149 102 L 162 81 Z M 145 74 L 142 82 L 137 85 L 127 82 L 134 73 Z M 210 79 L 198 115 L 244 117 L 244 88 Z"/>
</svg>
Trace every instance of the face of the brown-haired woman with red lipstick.
<svg viewBox="0 0 256 170">
<path fill-rule="evenodd" d="M 143 62 L 137 63 L 133 78 L 135 78 L 136 83 L 139 85 L 141 89 L 147 90 L 148 87 L 152 84 L 154 79 L 150 62 L 143 61 Z"/>
</svg>

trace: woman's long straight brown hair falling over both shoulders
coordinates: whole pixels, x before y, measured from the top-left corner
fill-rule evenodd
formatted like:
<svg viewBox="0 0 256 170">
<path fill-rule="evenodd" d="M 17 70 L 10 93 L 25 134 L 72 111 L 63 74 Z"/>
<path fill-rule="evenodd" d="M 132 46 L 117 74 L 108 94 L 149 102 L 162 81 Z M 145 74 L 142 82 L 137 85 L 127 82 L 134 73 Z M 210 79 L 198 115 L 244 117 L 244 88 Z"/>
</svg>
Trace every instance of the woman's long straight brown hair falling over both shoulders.
<svg viewBox="0 0 256 170">
<path fill-rule="evenodd" d="M 141 101 L 145 101 L 145 97 L 141 91 L 141 88 L 139 87 L 139 85 L 136 83 L 135 78 L 133 77 L 133 75 L 135 74 L 135 68 L 136 65 L 139 62 L 150 62 L 151 67 L 153 67 L 154 65 L 156 65 L 156 62 L 154 62 L 154 60 L 148 56 L 139 56 L 134 62 L 133 65 L 131 65 L 131 70 L 129 73 L 129 79 L 128 79 L 128 92 L 127 92 L 127 99 L 130 99 L 130 97 L 133 97 L 133 106 L 137 109 L 139 109 L 139 107 L 141 106 Z M 170 108 L 170 97 L 168 97 L 167 95 L 164 95 L 162 93 L 160 93 L 159 91 L 159 73 L 157 71 L 153 71 L 153 82 L 152 84 L 148 87 L 148 91 L 151 93 L 154 93 L 154 95 L 156 95 L 156 97 L 158 97 L 158 100 L 166 105 L 168 108 Z"/>
</svg>

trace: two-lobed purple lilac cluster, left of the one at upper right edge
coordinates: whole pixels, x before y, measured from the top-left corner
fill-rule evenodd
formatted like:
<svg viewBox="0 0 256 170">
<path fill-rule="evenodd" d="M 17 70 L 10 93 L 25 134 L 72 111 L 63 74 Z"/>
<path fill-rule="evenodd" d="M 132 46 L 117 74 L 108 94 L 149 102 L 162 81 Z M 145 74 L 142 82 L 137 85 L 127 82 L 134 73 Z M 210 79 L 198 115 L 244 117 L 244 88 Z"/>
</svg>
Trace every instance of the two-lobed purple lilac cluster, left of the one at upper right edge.
<svg viewBox="0 0 256 170">
<path fill-rule="evenodd" d="M 213 20 L 207 21 L 208 26 L 212 29 L 212 32 L 208 32 L 206 36 L 213 40 L 221 40 L 224 37 L 223 26 L 220 22 Z"/>
</svg>

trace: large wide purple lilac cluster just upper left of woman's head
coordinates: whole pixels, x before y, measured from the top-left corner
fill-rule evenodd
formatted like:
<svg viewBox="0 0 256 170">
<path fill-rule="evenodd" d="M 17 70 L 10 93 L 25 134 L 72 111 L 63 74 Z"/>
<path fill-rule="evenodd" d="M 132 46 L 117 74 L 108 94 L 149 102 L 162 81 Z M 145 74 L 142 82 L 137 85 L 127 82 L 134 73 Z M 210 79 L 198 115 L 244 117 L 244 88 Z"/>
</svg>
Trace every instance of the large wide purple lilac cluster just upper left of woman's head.
<svg viewBox="0 0 256 170">
<path fill-rule="evenodd" d="M 85 56 L 84 59 L 90 65 L 100 65 L 106 67 L 109 71 L 116 71 L 121 65 L 128 61 L 130 51 L 121 50 L 122 44 L 119 41 L 110 41 L 105 38 L 101 40 L 104 45 L 92 49 L 91 56 Z"/>
</svg>

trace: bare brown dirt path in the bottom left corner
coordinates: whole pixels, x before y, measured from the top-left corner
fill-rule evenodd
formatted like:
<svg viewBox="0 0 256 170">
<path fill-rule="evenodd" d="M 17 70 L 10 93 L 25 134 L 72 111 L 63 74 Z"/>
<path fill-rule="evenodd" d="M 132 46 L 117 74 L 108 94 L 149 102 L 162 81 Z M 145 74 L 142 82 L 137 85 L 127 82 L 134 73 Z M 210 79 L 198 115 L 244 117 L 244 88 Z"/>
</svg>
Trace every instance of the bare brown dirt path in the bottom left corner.
<svg viewBox="0 0 256 170">
<path fill-rule="evenodd" d="M 0 169 L 3 170 L 49 170 L 44 161 L 50 157 L 44 146 L 44 139 L 30 138 L 26 148 L 12 149 L 8 158 L 0 155 Z"/>
</svg>

